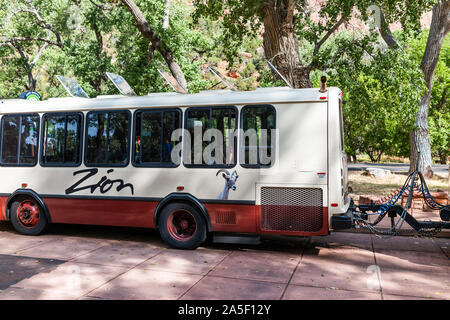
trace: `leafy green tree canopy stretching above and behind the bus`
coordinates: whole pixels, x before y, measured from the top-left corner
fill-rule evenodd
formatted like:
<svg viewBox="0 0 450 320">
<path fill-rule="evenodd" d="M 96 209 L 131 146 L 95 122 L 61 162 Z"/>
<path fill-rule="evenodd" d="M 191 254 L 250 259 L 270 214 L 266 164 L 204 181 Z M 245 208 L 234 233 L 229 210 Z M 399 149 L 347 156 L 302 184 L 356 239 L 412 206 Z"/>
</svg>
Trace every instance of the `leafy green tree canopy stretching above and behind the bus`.
<svg viewBox="0 0 450 320">
<path fill-rule="evenodd" d="M 0 0 L 0 98 L 25 90 L 44 99 L 64 96 L 58 74 L 75 77 L 89 96 L 117 93 L 106 72 L 121 74 L 138 94 L 170 91 L 158 73 L 172 71 L 165 53 L 190 92 L 220 87 L 207 65 L 240 90 L 285 86 L 269 60 L 293 87 L 318 86 L 327 75 L 343 90 L 350 156 L 409 156 L 409 132 L 427 87 L 421 63 L 429 32 L 421 30 L 420 17 L 447 2 Z M 391 23 L 400 30 L 391 32 Z M 428 118 L 431 152 L 441 162 L 450 150 L 449 70 L 447 37 Z"/>
</svg>

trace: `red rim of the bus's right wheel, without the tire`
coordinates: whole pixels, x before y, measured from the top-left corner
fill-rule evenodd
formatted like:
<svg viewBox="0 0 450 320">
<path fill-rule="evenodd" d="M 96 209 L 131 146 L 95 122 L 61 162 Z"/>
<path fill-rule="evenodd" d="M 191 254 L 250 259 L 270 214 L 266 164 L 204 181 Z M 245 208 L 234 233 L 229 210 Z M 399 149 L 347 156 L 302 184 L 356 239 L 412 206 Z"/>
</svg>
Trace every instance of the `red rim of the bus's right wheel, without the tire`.
<svg viewBox="0 0 450 320">
<path fill-rule="evenodd" d="M 188 241 L 197 232 L 197 222 L 189 211 L 177 210 L 170 214 L 167 230 L 175 240 Z"/>
</svg>

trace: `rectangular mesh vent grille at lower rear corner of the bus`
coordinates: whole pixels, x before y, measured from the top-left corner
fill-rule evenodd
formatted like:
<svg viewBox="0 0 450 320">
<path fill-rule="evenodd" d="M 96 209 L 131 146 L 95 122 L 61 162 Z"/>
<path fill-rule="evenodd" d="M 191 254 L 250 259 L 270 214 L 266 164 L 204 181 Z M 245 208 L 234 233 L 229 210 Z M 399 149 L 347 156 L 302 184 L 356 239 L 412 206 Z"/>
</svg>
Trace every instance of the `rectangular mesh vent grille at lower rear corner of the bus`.
<svg viewBox="0 0 450 320">
<path fill-rule="evenodd" d="M 318 232 L 323 224 L 320 188 L 261 188 L 261 229 Z"/>
</svg>

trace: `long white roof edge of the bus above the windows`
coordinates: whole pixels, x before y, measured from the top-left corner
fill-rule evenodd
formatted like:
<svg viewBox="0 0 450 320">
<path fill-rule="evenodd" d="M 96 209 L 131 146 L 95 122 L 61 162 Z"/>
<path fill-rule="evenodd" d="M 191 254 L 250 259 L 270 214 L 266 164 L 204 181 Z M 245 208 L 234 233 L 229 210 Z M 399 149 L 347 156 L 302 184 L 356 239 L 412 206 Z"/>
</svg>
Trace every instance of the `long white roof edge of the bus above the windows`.
<svg viewBox="0 0 450 320">
<path fill-rule="evenodd" d="M 98 96 L 96 98 L 50 98 L 44 101 L 0 100 L 0 114 L 29 112 L 64 112 L 149 107 L 195 107 L 219 105 L 276 104 L 326 101 L 328 94 L 317 88 L 258 88 L 254 91 L 210 90 L 195 94 L 175 92 L 150 93 L 146 96 Z M 327 97 L 324 99 L 324 97 Z"/>
</svg>

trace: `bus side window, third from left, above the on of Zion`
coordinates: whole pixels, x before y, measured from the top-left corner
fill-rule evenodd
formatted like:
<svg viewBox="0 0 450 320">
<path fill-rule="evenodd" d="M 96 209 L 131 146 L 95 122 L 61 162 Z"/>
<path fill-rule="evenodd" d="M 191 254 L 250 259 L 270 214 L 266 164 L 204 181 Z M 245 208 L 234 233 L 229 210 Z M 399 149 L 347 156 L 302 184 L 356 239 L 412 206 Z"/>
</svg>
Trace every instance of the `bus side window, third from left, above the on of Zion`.
<svg viewBox="0 0 450 320">
<path fill-rule="evenodd" d="M 86 165 L 128 164 L 129 111 L 91 111 L 86 116 Z"/>
</svg>

